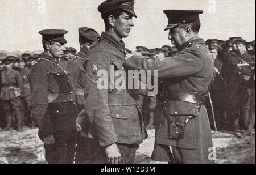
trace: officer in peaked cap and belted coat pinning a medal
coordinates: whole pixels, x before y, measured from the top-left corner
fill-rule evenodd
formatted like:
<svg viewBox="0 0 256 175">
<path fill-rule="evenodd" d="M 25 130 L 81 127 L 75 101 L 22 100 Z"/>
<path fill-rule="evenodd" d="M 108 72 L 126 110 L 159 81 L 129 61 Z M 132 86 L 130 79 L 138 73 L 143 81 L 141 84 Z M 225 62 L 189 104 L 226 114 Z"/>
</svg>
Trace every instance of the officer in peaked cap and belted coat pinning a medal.
<svg viewBox="0 0 256 175">
<path fill-rule="evenodd" d="M 212 133 L 203 100 L 213 79 L 213 59 L 203 39 L 197 10 L 164 10 L 165 30 L 179 49 L 174 57 L 158 62 L 147 57 L 128 56 L 126 69 L 158 70 L 163 86 L 156 109 L 155 147 L 152 159 L 170 163 L 212 163 Z"/>
</svg>

